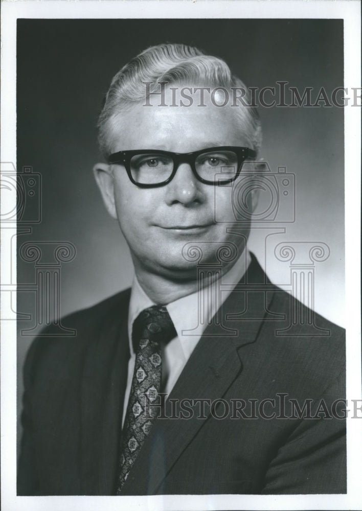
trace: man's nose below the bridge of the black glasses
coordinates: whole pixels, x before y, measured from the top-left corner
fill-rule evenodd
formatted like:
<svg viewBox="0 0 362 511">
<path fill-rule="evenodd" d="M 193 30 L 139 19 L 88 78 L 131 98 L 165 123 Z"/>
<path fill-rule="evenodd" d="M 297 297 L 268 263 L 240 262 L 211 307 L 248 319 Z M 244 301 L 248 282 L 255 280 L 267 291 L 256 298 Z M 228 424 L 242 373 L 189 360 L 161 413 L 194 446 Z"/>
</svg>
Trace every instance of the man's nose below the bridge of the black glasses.
<svg viewBox="0 0 362 511">
<path fill-rule="evenodd" d="M 169 204 L 179 202 L 191 204 L 202 201 L 202 183 L 198 181 L 189 164 L 182 163 L 178 166 L 176 174 L 167 186 L 167 201 Z"/>
</svg>

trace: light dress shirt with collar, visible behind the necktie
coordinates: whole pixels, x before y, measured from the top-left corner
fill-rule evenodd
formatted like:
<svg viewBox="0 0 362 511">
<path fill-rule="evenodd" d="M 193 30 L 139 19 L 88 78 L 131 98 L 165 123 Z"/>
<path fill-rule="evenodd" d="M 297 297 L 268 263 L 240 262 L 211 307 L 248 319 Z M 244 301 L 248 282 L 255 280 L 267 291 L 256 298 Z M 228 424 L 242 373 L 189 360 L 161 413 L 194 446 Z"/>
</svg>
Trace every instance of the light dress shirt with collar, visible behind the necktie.
<svg viewBox="0 0 362 511">
<path fill-rule="evenodd" d="M 217 310 L 232 292 L 233 287 L 240 281 L 250 264 L 250 253 L 243 253 L 234 266 L 221 277 L 222 284 L 228 284 L 228 290 L 217 292 L 216 281 L 200 291 L 172 301 L 166 308 L 174 324 L 177 336 L 171 339 L 162 349 L 162 383 L 161 391 L 167 396 L 181 374 L 191 353 L 200 340 L 203 331 L 212 322 Z M 203 293 L 203 297 L 200 297 Z M 218 298 L 216 298 L 218 296 Z M 208 297 L 208 299 L 203 299 Z M 202 299 L 202 301 L 201 301 Z M 199 304 L 203 304 L 200 307 Z M 124 424 L 129 394 L 131 391 L 135 353 L 132 345 L 133 321 L 144 309 L 156 305 L 142 289 L 136 276 L 133 278 L 131 297 L 128 311 L 128 338 L 130 359 L 128 362 L 127 386 L 123 405 L 122 427 Z M 166 396 L 166 399 L 167 399 Z"/>
</svg>

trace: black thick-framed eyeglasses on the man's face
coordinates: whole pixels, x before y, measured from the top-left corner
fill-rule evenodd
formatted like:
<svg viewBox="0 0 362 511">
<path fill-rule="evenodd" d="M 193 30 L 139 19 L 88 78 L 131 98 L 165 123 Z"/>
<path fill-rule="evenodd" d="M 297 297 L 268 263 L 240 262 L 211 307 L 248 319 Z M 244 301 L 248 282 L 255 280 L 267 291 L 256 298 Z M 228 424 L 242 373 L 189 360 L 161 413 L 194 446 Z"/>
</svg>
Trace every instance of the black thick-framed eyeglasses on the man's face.
<svg viewBox="0 0 362 511">
<path fill-rule="evenodd" d="M 201 183 L 231 183 L 240 174 L 243 162 L 255 158 L 256 152 L 247 147 L 221 146 L 192 153 L 154 149 L 119 151 L 108 157 L 108 163 L 124 166 L 129 179 L 138 187 L 156 188 L 168 184 L 182 163 L 190 165 Z"/>
</svg>

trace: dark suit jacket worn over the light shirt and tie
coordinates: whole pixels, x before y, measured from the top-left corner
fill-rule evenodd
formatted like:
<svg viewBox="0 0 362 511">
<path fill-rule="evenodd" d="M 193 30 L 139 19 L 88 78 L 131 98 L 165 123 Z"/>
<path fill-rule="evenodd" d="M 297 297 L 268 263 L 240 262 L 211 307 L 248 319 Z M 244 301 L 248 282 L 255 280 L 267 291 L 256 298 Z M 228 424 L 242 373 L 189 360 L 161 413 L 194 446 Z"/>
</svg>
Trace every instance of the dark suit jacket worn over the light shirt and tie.
<svg viewBox="0 0 362 511">
<path fill-rule="evenodd" d="M 75 338 L 39 337 L 32 344 L 19 495 L 115 493 L 129 296 L 123 291 L 66 318 Z M 345 397 L 344 331 L 319 315 L 312 326 L 305 316 L 304 324 L 288 328 L 297 307 L 253 257 L 222 307 L 223 324 L 234 332 L 207 327 L 166 401 L 167 416 L 171 398 L 208 399 L 213 412 L 207 402 L 200 413 L 196 402 L 192 415 L 184 401 L 176 415 L 190 418 L 159 417 L 125 495 L 346 492 L 345 421 L 333 417 L 343 413 L 332 406 Z M 277 416 L 266 418 L 273 411 Z"/>
</svg>

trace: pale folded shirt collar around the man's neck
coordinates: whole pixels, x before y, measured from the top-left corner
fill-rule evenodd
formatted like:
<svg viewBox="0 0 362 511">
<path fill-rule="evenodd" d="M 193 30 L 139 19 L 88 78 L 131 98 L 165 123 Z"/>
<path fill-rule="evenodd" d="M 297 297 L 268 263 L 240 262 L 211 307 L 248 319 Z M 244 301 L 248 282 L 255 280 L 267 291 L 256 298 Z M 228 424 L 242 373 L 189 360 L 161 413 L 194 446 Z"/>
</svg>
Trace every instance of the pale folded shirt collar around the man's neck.
<svg viewBox="0 0 362 511">
<path fill-rule="evenodd" d="M 244 250 L 233 267 L 222 275 L 221 284 L 229 284 L 228 290 L 222 291 L 221 293 L 217 292 L 217 286 L 220 283 L 215 281 L 207 288 L 178 298 L 166 306 L 186 357 L 190 355 L 195 347 L 195 343 L 197 343 L 201 337 L 208 323 L 211 322 L 219 307 L 232 292 L 233 286 L 236 286 L 241 280 L 250 261 L 250 253 Z M 203 293 L 204 297 L 218 296 L 219 298 L 204 300 L 204 307 L 200 307 L 201 293 Z M 134 354 L 132 346 L 133 321 L 140 312 L 152 305 L 155 305 L 155 303 L 147 296 L 137 276 L 134 275 L 128 312 L 128 338 L 131 356 Z"/>
</svg>

